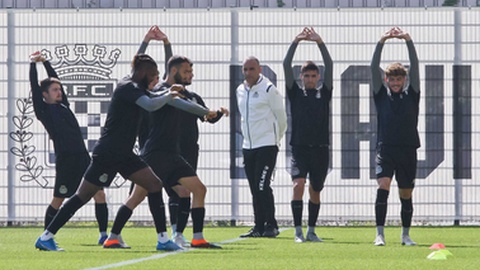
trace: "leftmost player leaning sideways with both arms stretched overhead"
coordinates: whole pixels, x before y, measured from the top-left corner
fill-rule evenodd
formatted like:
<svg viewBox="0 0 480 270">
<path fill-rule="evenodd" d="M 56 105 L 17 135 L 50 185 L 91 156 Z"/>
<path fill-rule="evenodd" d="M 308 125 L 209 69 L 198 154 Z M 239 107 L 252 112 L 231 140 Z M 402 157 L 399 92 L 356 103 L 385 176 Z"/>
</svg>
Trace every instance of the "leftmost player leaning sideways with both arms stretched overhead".
<svg viewBox="0 0 480 270">
<path fill-rule="evenodd" d="M 90 155 L 57 73 L 38 51 L 30 56 L 30 60 L 33 109 L 35 116 L 47 130 L 55 150 L 55 185 L 53 199 L 45 213 L 44 228 L 47 228 L 65 198 L 71 197 L 80 185 L 83 173 L 90 164 Z M 39 62 L 43 63 L 48 75 L 40 84 L 36 67 Z M 93 199 L 100 231 L 98 243 L 102 244 L 107 237 L 108 226 L 108 208 L 103 189 L 100 189 Z"/>
</svg>

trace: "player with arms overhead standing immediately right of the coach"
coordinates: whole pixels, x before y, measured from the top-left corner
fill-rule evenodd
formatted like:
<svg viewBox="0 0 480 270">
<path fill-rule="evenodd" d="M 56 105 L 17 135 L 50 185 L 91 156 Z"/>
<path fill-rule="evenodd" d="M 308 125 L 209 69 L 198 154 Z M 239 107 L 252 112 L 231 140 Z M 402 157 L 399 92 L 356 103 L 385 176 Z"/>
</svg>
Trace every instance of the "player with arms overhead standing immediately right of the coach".
<svg viewBox="0 0 480 270">
<path fill-rule="evenodd" d="M 292 59 L 300 41 L 313 41 L 323 57 L 325 71 L 323 84 L 318 87 L 320 70 L 313 61 L 306 61 L 300 70 L 303 86 L 295 82 Z M 293 196 L 291 208 L 295 226 L 295 242 L 322 242 L 315 234 L 320 211 L 320 192 L 325 183 L 329 164 L 330 101 L 333 88 L 333 62 L 322 38 L 313 28 L 305 27 L 293 40 L 283 61 L 287 97 L 292 114 L 292 168 Z M 307 175 L 310 179 L 307 237 L 302 232 L 303 193 Z"/>
</svg>

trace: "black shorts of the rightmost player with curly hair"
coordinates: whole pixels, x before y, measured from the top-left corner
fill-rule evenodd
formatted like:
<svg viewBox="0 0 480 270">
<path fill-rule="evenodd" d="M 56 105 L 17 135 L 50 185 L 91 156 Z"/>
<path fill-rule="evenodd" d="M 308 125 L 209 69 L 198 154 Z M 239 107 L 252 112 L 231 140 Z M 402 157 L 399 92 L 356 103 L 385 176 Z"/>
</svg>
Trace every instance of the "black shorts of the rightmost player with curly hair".
<svg viewBox="0 0 480 270">
<path fill-rule="evenodd" d="M 397 180 L 399 188 L 413 188 L 417 173 L 417 148 L 397 146 L 377 146 L 377 179 L 382 177 Z"/>
</svg>

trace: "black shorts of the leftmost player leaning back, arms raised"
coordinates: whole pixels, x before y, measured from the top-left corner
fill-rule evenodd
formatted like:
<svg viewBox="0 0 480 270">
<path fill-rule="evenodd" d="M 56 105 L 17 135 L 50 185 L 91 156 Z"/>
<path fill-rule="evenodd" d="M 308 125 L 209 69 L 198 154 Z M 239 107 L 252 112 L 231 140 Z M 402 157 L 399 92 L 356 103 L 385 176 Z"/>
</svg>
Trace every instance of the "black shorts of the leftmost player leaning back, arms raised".
<svg viewBox="0 0 480 270">
<path fill-rule="evenodd" d="M 87 152 L 58 155 L 55 162 L 53 196 L 68 198 L 75 194 L 88 164 L 90 164 L 90 156 Z"/>
</svg>

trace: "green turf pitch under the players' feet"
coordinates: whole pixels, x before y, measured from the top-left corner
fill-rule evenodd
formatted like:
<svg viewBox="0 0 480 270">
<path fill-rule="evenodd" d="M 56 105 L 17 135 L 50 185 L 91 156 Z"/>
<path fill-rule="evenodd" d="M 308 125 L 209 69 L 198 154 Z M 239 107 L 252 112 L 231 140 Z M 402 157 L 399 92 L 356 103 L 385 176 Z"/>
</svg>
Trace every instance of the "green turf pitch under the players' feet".
<svg viewBox="0 0 480 270">
<path fill-rule="evenodd" d="M 323 243 L 293 242 L 289 228 L 276 239 L 236 239 L 245 227 L 207 227 L 212 242 L 224 243 L 222 250 L 189 250 L 161 257 L 155 251 L 154 228 L 126 228 L 130 250 L 107 250 L 96 245 L 94 227 L 66 227 L 56 240 L 65 252 L 41 252 L 34 248 L 41 228 L 0 228 L 0 269 L 87 269 L 116 263 L 131 264 L 101 269 L 480 269 L 480 228 L 414 227 L 416 247 L 401 246 L 400 228 L 385 228 L 387 245 L 372 244 L 372 227 L 317 228 Z M 186 235 L 191 237 L 191 228 Z M 433 243 L 443 243 L 453 256 L 428 260 Z"/>
</svg>

